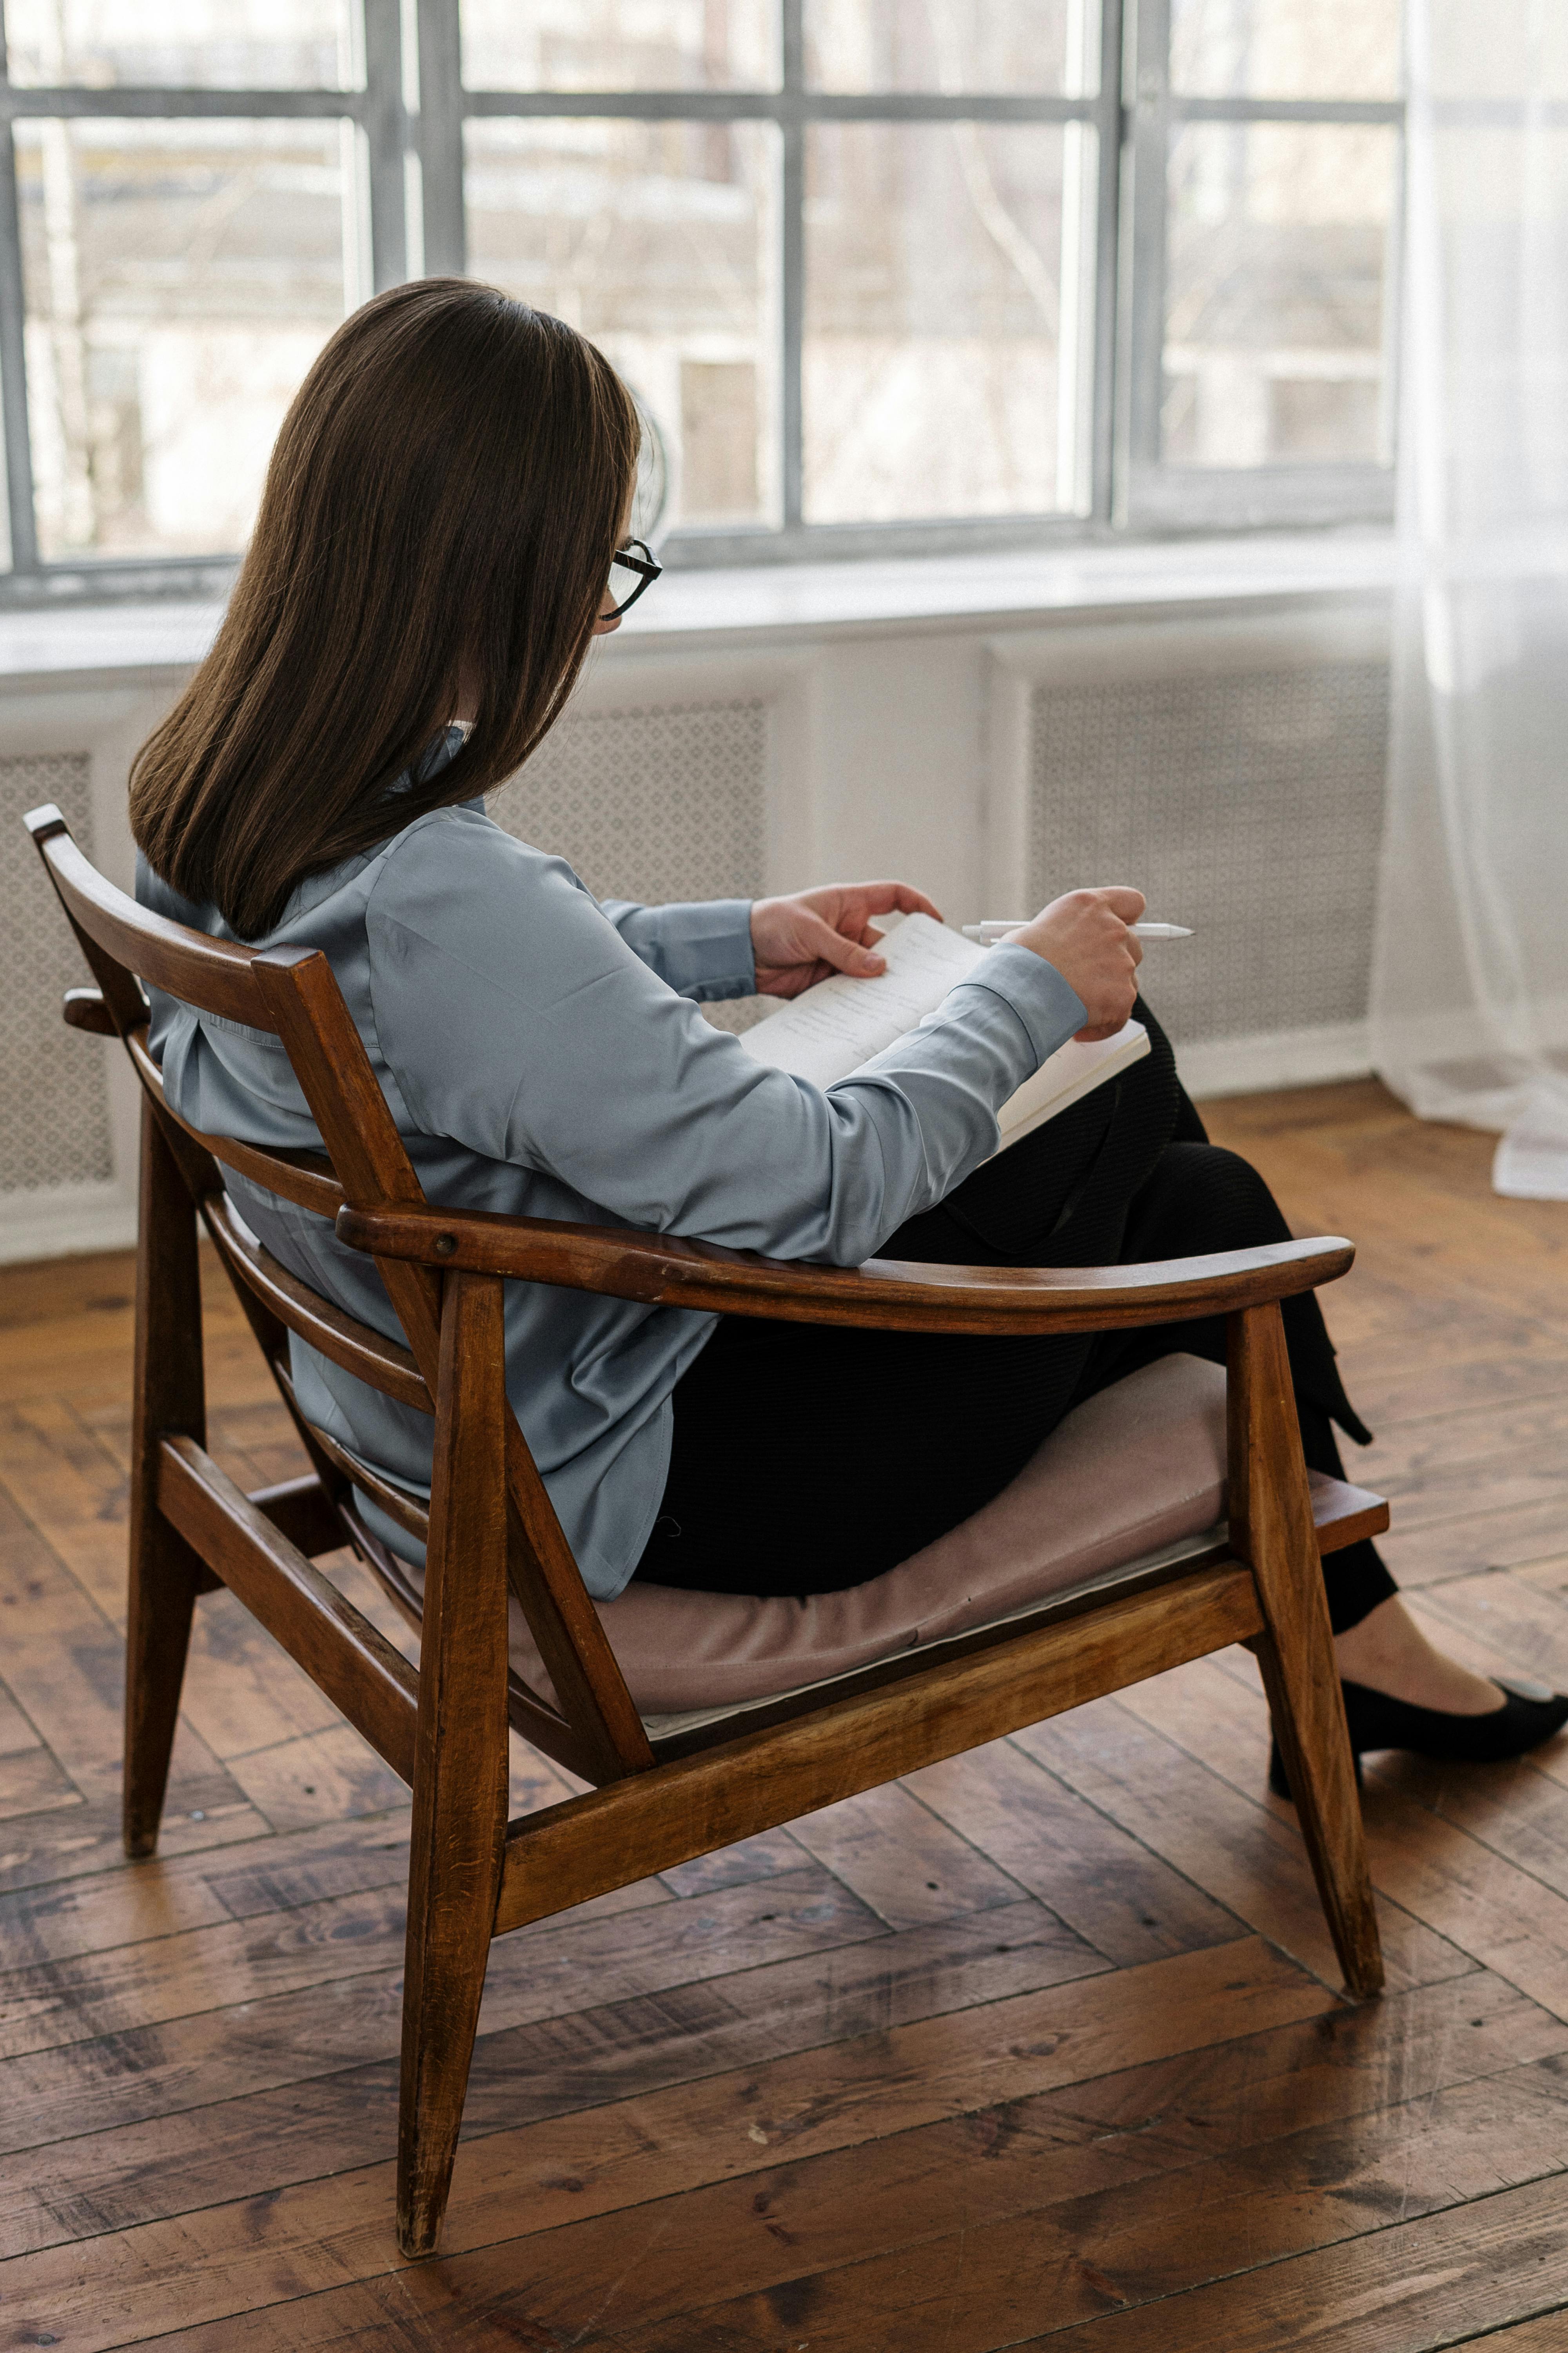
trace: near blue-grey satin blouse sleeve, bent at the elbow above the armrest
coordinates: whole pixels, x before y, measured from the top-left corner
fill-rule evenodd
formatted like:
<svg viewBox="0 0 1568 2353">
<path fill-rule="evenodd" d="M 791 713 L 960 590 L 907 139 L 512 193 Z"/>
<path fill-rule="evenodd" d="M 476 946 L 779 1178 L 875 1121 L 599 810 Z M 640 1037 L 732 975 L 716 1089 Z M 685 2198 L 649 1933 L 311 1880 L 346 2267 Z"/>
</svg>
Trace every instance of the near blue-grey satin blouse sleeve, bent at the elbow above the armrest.
<svg viewBox="0 0 1568 2353">
<path fill-rule="evenodd" d="M 433 812 L 367 904 L 376 1040 L 418 1127 L 661 1233 L 853 1266 L 997 1148 L 997 1106 L 1084 1024 L 994 948 L 825 1092 L 766 1068 L 646 962 L 571 868 Z"/>
</svg>

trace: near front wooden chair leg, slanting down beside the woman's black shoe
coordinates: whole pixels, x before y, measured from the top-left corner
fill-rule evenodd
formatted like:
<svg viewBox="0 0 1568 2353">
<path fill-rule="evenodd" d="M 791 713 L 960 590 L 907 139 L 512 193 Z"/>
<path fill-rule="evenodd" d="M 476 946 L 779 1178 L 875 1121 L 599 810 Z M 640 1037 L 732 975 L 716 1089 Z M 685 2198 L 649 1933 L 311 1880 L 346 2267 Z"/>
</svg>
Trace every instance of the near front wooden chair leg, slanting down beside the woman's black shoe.
<svg viewBox="0 0 1568 2353">
<path fill-rule="evenodd" d="M 1274 1737 L 1345 1986 L 1363 1998 L 1382 1988 L 1382 1948 L 1276 1304 L 1229 1318 L 1229 1541 L 1258 1581 Z"/>
</svg>

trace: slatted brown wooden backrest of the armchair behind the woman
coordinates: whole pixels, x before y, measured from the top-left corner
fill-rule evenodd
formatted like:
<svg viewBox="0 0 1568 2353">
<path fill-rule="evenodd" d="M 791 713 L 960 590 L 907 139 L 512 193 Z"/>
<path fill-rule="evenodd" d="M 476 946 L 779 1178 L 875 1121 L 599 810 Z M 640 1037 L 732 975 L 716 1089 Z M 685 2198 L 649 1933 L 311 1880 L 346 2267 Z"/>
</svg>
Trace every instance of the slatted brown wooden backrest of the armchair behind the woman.
<svg viewBox="0 0 1568 2353">
<path fill-rule="evenodd" d="M 56 807 L 33 809 L 26 826 L 99 984 L 108 1021 L 136 1068 L 150 1118 L 172 1146 L 289 1409 L 301 1419 L 287 1365 L 268 1346 L 268 1332 L 277 1327 L 296 1332 L 386 1395 L 437 1412 L 442 1275 L 400 1259 L 374 1259 L 409 1341 L 407 1351 L 397 1348 L 259 1249 L 230 1212 L 214 1167 L 226 1162 L 263 1191 L 317 1217 L 336 1217 L 343 1207 L 423 1205 L 414 1162 L 322 951 L 256 951 L 190 932 L 115 889 L 80 852 Z M 277 1038 L 327 1146 L 324 1158 L 268 1151 L 183 1122 L 167 1104 L 162 1073 L 148 1054 L 141 984 L 162 988 L 197 1012 Z M 308 1433 L 308 1442 L 320 1464 L 322 1433 Z M 329 1452 L 336 1457 L 339 1449 Z M 562 1701 L 567 1762 L 576 1762 L 595 1781 L 637 1772 L 651 1765 L 646 1732 L 510 1412 L 505 1482 L 510 1584 Z M 395 1501 L 376 1492 L 383 1501 Z M 538 1706 L 545 1708 L 543 1701 Z"/>
</svg>

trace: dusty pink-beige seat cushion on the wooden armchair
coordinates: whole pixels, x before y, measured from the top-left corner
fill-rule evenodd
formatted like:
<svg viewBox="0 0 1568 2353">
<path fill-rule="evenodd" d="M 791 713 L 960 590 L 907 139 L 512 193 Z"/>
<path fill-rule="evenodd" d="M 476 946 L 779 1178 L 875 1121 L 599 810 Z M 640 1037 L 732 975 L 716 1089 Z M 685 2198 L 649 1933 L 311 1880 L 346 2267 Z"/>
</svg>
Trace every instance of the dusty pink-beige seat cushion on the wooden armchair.
<svg viewBox="0 0 1568 2353">
<path fill-rule="evenodd" d="M 637 1579 L 599 1617 L 642 1715 L 724 1711 L 985 1626 L 1222 1518 L 1225 1374 L 1168 1355 L 1079 1405 L 1011 1487 L 863 1586 L 757 1600 Z M 510 1657 L 555 1697 L 517 1602 Z"/>
</svg>

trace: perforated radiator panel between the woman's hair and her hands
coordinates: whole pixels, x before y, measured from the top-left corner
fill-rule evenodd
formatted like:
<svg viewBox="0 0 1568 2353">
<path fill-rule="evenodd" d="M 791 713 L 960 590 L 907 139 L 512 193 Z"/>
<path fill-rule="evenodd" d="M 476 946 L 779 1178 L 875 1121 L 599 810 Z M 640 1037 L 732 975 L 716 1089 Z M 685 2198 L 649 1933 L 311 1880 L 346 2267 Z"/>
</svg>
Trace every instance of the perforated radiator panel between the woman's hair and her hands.
<svg viewBox="0 0 1568 2353">
<path fill-rule="evenodd" d="M 599 899 L 757 899 L 766 807 L 766 704 L 571 711 L 489 814 L 555 849 Z M 724 1028 L 762 998 L 705 1007 Z"/>
</svg>

